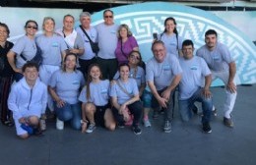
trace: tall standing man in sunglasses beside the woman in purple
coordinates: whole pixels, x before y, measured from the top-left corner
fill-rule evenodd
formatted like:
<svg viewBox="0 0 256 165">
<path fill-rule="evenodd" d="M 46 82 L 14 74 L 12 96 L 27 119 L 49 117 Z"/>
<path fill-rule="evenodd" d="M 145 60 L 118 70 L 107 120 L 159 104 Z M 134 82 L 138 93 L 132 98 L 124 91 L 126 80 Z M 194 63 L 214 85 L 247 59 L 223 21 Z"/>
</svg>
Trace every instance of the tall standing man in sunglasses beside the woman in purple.
<svg viewBox="0 0 256 165">
<path fill-rule="evenodd" d="M 104 79 L 112 80 L 117 71 L 117 60 L 114 54 L 117 45 L 118 26 L 113 22 L 113 12 L 103 12 L 104 23 L 96 26 L 99 52 L 97 62 Z"/>
</svg>

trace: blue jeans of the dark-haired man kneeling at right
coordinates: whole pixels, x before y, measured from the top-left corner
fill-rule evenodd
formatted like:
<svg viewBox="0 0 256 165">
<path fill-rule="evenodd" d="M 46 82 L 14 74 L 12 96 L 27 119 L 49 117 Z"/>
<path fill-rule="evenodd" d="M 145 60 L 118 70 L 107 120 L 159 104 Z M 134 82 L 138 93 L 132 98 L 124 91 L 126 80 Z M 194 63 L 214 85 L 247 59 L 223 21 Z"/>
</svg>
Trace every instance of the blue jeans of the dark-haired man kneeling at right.
<svg viewBox="0 0 256 165">
<path fill-rule="evenodd" d="M 192 117 L 192 108 L 194 106 L 194 103 L 196 101 L 202 103 L 202 110 L 203 110 L 203 117 L 202 117 L 202 123 L 209 123 L 211 120 L 211 112 L 213 109 L 213 100 L 212 97 L 206 98 L 202 94 L 202 88 L 199 88 L 194 94 L 185 100 L 179 100 L 178 106 L 179 106 L 179 112 L 181 115 L 181 119 L 185 122 L 189 121 L 189 119 Z"/>
</svg>

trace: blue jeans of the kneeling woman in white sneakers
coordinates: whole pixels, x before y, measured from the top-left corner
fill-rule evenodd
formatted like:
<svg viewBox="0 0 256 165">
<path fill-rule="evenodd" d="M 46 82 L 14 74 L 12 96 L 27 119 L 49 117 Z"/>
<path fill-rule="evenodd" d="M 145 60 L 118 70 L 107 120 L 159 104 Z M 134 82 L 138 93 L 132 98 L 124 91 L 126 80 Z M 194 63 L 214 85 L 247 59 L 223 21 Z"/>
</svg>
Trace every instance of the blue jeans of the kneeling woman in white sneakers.
<svg viewBox="0 0 256 165">
<path fill-rule="evenodd" d="M 70 121 L 71 127 L 80 130 L 81 129 L 81 104 L 69 104 L 61 108 L 57 107 L 57 103 L 54 102 L 54 110 L 56 112 L 57 118 L 61 121 Z"/>
</svg>

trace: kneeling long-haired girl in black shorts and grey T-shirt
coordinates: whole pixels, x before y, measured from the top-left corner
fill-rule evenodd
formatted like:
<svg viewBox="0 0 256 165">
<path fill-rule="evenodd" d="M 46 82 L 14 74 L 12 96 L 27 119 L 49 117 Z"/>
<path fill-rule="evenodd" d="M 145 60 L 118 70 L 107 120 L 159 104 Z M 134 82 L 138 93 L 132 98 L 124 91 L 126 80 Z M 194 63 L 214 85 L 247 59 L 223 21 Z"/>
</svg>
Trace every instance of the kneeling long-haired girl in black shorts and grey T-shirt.
<svg viewBox="0 0 256 165">
<path fill-rule="evenodd" d="M 115 130 L 115 122 L 109 104 L 109 81 L 102 80 L 98 64 L 92 64 L 88 70 L 87 85 L 81 91 L 82 133 L 93 133 L 96 125 Z M 88 120 L 89 120 L 89 126 Z"/>
</svg>

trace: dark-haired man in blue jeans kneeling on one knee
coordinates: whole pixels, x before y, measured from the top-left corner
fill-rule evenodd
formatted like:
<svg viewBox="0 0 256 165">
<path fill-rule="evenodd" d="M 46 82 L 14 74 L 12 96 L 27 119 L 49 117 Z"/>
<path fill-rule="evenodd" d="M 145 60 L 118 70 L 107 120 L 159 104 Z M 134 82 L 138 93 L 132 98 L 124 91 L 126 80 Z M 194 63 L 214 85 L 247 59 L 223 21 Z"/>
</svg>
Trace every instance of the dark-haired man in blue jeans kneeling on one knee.
<svg viewBox="0 0 256 165">
<path fill-rule="evenodd" d="M 192 117 L 192 110 L 196 101 L 202 103 L 202 125 L 205 133 L 211 133 L 211 111 L 213 109 L 211 71 L 205 60 L 194 56 L 194 44 L 191 40 L 182 43 L 183 57 L 179 58 L 182 68 L 182 79 L 179 83 L 179 112 L 183 121 Z"/>
</svg>

